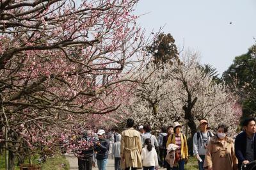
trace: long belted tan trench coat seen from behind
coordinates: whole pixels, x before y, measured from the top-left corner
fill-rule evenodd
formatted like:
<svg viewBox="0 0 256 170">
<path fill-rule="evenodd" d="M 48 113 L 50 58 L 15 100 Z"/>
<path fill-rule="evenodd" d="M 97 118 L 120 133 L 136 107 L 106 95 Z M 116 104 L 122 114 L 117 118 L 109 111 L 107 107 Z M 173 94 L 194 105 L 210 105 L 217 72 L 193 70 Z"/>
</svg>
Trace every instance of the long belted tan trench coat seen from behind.
<svg viewBox="0 0 256 170">
<path fill-rule="evenodd" d="M 128 128 L 122 132 L 121 137 L 121 167 L 138 167 L 141 168 L 141 137 L 140 132 L 134 128 Z"/>
</svg>

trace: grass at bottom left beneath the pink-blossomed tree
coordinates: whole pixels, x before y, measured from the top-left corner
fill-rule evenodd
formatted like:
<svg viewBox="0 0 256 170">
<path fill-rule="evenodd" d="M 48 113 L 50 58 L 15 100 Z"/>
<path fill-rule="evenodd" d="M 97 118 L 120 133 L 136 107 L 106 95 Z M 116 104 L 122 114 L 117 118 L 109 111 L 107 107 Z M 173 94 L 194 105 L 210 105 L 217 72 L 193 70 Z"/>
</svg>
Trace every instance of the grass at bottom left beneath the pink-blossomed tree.
<svg viewBox="0 0 256 170">
<path fill-rule="evenodd" d="M 38 155 L 34 155 L 32 157 L 32 163 L 38 164 Z M 17 163 L 16 163 L 17 164 Z M 28 164 L 28 159 L 25 160 L 24 164 Z M 62 165 L 62 166 L 61 166 Z M 61 155 L 55 155 L 52 158 L 47 158 L 44 164 L 40 165 L 42 170 L 68 170 L 69 164 L 65 157 Z M 15 170 L 19 170 L 20 167 L 15 166 Z M 0 170 L 5 170 L 5 157 L 4 155 L 0 155 Z"/>
</svg>

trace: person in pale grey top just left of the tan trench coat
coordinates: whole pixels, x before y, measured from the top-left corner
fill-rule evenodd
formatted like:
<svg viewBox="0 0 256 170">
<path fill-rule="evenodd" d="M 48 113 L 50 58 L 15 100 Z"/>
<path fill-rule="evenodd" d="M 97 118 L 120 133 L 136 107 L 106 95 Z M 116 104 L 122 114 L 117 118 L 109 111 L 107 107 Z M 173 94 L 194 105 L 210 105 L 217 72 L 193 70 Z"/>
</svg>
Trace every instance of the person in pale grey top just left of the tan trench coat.
<svg viewBox="0 0 256 170">
<path fill-rule="evenodd" d="M 112 157 L 115 157 L 115 170 L 121 170 L 121 155 L 120 155 L 121 135 L 115 134 L 115 143 L 112 145 Z"/>
</svg>

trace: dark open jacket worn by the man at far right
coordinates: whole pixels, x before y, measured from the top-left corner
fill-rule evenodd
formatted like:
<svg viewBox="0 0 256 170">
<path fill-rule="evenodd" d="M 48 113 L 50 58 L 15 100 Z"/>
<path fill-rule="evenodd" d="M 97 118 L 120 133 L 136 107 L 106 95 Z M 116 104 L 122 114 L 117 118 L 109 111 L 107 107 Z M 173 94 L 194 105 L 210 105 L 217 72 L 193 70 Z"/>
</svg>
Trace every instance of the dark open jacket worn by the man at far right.
<svg viewBox="0 0 256 170">
<path fill-rule="evenodd" d="M 254 158 L 256 158 L 256 135 L 253 139 Z M 235 154 L 238 159 L 238 167 L 241 167 L 246 154 L 246 132 L 238 134 L 235 141 Z"/>
</svg>

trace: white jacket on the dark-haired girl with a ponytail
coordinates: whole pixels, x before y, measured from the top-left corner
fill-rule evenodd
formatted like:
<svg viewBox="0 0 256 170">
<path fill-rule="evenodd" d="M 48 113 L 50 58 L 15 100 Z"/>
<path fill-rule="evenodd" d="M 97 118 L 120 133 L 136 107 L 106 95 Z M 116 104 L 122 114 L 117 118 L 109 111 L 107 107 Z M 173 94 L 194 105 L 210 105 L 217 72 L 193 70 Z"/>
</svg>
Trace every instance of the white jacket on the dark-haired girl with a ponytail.
<svg viewBox="0 0 256 170">
<path fill-rule="evenodd" d="M 141 151 L 141 160 L 142 160 L 142 166 L 157 167 L 158 166 L 158 159 L 157 159 L 156 149 L 154 147 L 152 147 L 152 150 L 148 151 L 147 150 L 147 145 L 146 145 Z"/>
</svg>

